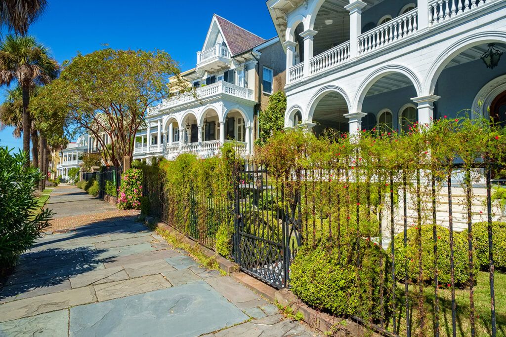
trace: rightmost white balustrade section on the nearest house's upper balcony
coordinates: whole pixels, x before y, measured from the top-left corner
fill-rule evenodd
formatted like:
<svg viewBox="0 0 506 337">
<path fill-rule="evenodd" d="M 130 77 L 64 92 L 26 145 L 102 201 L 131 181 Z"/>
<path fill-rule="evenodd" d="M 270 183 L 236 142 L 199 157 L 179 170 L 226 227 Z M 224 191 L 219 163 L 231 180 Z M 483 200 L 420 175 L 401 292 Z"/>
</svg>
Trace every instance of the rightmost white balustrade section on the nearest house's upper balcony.
<svg viewBox="0 0 506 337">
<path fill-rule="evenodd" d="M 447 21 L 493 0 L 434 0 L 429 3 L 429 25 Z"/>
</svg>

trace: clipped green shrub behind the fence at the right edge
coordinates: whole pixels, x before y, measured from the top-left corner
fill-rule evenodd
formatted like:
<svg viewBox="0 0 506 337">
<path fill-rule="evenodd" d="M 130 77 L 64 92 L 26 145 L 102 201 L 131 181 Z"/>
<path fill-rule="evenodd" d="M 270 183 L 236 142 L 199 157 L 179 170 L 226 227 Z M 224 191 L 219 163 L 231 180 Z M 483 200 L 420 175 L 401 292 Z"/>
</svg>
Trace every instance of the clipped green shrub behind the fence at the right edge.
<svg viewBox="0 0 506 337">
<path fill-rule="evenodd" d="M 468 231 L 460 233 L 462 240 L 467 242 Z M 506 222 L 492 222 L 492 240 L 495 269 L 506 271 Z M 474 261 L 480 270 L 488 270 L 488 222 L 473 224 Z"/>
</svg>

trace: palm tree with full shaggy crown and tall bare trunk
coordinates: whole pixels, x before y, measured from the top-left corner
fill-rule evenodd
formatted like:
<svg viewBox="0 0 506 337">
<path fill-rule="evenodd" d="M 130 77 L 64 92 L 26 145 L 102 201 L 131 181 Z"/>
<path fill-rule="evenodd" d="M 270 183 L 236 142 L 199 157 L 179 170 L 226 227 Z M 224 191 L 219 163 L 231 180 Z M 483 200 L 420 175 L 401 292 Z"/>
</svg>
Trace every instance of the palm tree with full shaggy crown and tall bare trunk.
<svg viewBox="0 0 506 337">
<path fill-rule="evenodd" d="M 58 63 L 49 56 L 48 49 L 31 36 L 8 35 L 0 44 L 0 85 L 9 86 L 15 80 L 21 87 L 23 151 L 26 153 L 30 151 L 30 92 L 36 85 L 56 78 L 58 70 Z"/>
</svg>

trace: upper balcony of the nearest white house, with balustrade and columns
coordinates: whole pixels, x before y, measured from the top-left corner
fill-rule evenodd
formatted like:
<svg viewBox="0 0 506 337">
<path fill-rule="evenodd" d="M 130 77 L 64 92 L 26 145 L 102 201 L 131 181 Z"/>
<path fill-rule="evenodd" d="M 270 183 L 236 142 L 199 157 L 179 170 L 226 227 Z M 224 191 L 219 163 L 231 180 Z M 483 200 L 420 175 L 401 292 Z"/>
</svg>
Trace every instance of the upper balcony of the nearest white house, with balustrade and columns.
<svg viewBox="0 0 506 337">
<path fill-rule="evenodd" d="M 377 1 L 350 1 L 350 5 L 342 7 L 344 11 L 334 9 L 333 16 L 332 7 L 335 6 L 330 6 L 334 4 L 330 0 L 325 1 L 321 8 L 314 9 L 313 13 L 295 11 L 288 17 L 288 23 L 293 22 L 292 26 L 286 28 L 287 85 L 352 66 L 373 55 L 409 47 L 410 41 L 423 39 L 424 35 L 432 36 L 444 29 L 458 29 L 459 22 L 470 20 L 470 17 L 479 15 L 480 11 L 487 12 L 491 6 L 500 2 L 501 0 L 418 1 L 410 7 L 399 8 L 397 16 L 383 16 L 377 23 L 367 22 L 376 15 L 371 12 L 378 11 L 376 6 L 381 2 Z M 272 10 L 276 9 L 271 8 Z M 302 20 L 299 19 L 301 17 Z M 339 24 L 336 23 L 338 21 Z"/>
</svg>

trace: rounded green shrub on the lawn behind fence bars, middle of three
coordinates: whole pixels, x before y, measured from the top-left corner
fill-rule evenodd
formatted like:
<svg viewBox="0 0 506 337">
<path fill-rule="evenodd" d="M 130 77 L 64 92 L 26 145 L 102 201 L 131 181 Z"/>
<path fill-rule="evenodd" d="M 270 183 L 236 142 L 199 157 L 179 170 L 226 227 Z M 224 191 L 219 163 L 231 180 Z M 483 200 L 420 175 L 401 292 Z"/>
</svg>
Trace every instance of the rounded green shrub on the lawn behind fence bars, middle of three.
<svg viewBox="0 0 506 337">
<path fill-rule="evenodd" d="M 434 279 L 434 239 L 433 226 L 421 226 L 421 265 L 422 280 L 430 283 Z M 440 283 L 450 283 L 450 231 L 442 226 L 437 228 L 438 248 L 438 279 Z M 418 228 L 411 227 L 407 230 L 407 246 L 404 248 L 404 233 L 395 236 L 395 265 L 398 281 L 405 279 L 404 266 L 408 266 L 408 279 L 412 282 L 418 280 Z M 388 252 L 391 250 L 389 245 Z M 467 240 L 464 240 L 458 232 L 453 232 L 453 261 L 455 283 L 465 285 L 469 280 L 469 257 Z"/>
</svg>

